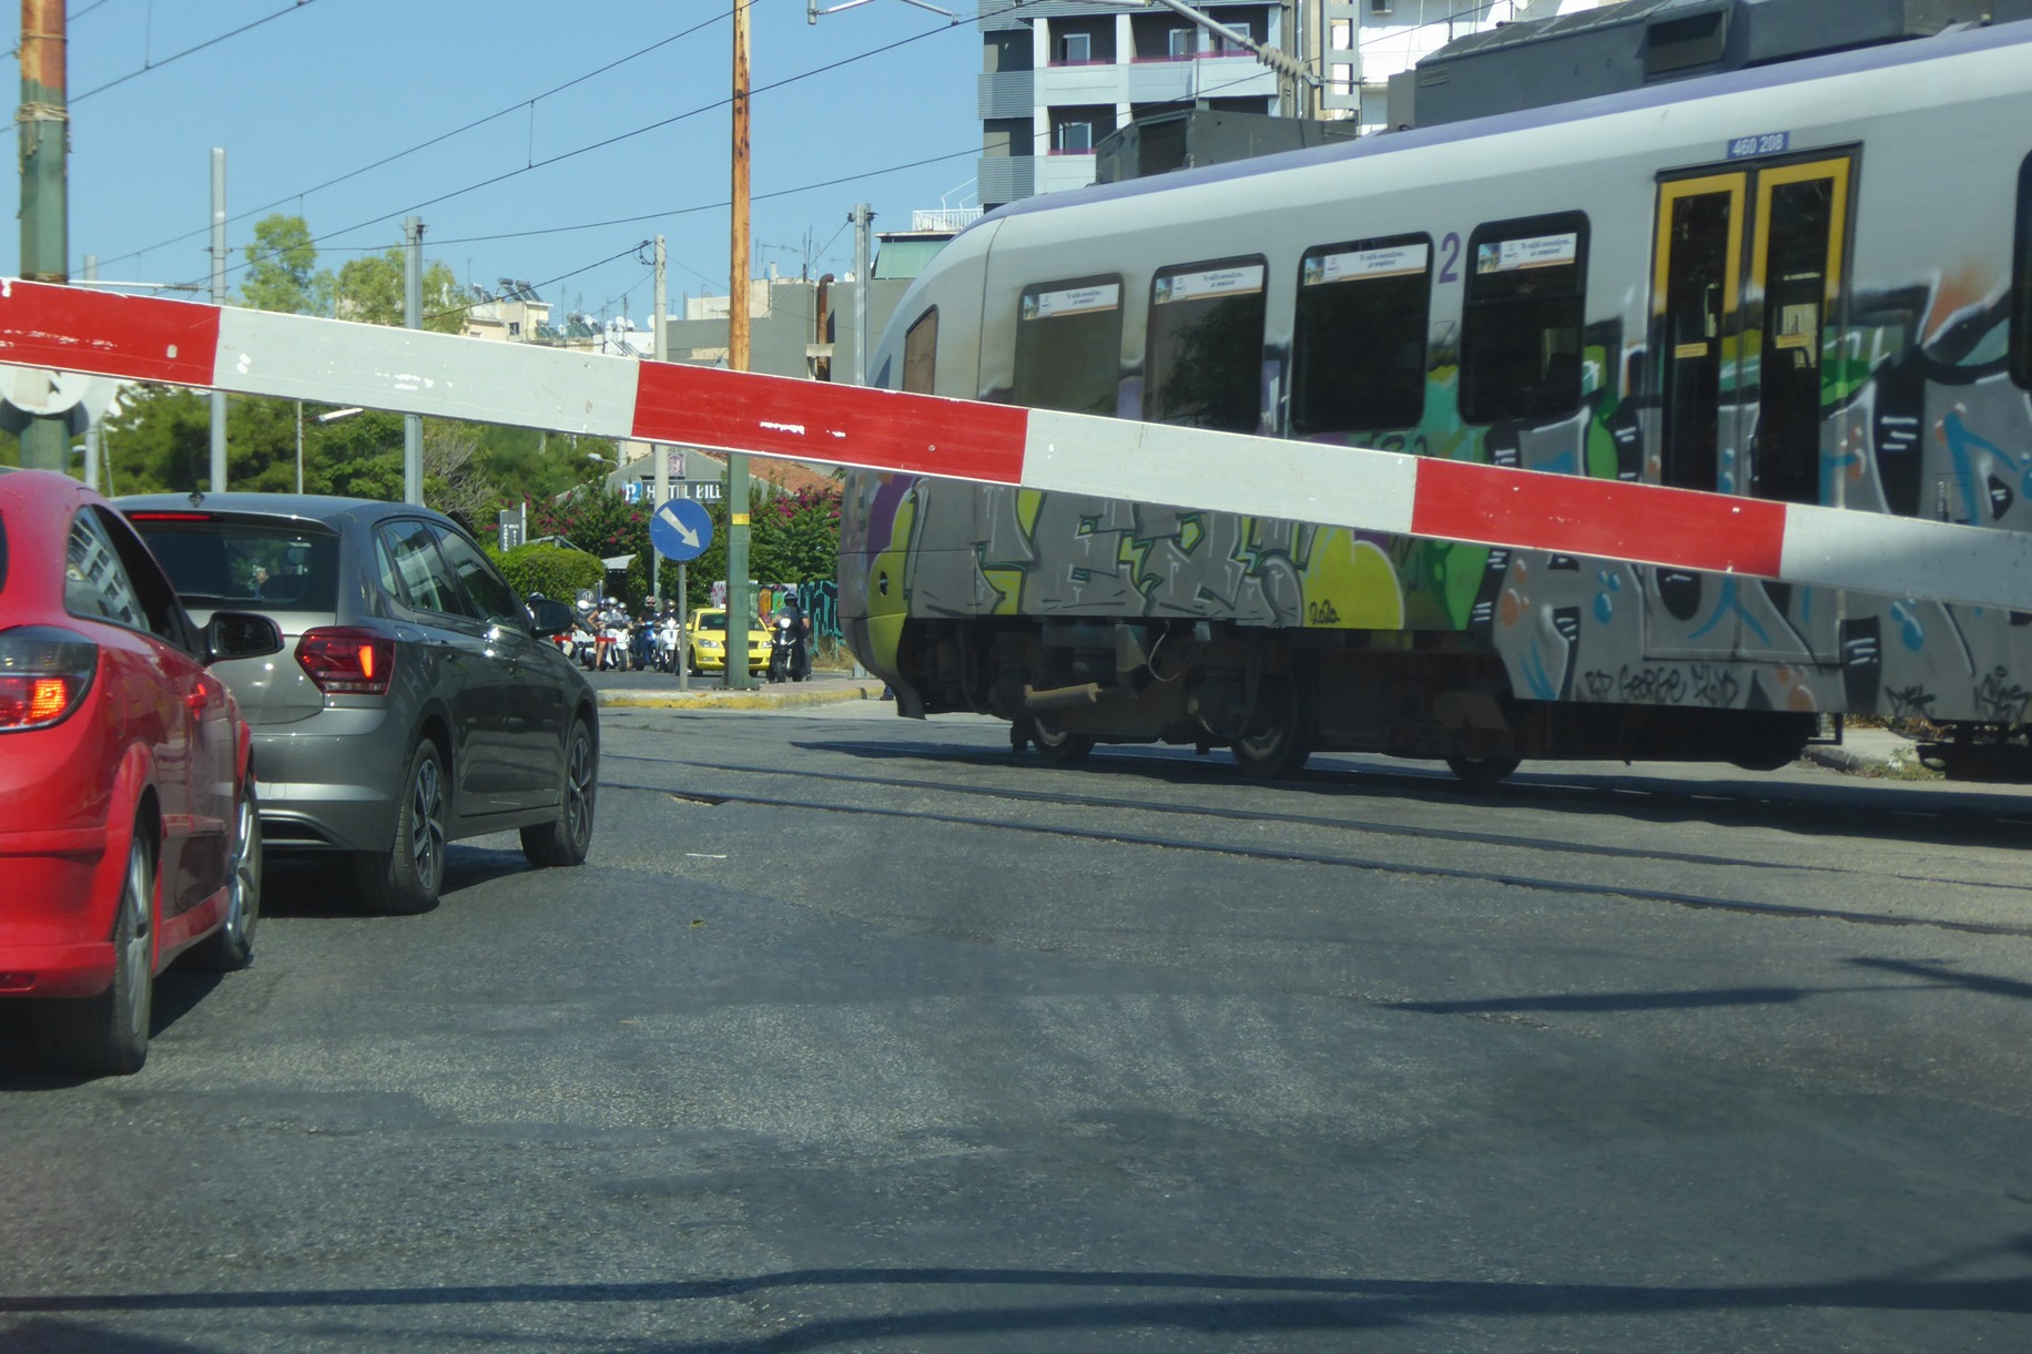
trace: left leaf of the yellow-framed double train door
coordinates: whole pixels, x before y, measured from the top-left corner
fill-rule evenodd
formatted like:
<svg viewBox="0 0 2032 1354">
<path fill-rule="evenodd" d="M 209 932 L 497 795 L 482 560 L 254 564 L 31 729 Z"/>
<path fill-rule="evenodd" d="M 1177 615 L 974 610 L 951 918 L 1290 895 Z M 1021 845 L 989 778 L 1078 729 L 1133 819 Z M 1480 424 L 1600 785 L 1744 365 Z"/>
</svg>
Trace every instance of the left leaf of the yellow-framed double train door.
<svg viewBox="0 0 2032 1354">
<path fill-rule="evenodd" d="M 1660 478 L 1717 488 L 1721 376 L 1735 342 L 1743 268 L 1745 175 L 1678 179 L 1658 189 L 1652 323 L 1662 392 Z"/>
</svg>

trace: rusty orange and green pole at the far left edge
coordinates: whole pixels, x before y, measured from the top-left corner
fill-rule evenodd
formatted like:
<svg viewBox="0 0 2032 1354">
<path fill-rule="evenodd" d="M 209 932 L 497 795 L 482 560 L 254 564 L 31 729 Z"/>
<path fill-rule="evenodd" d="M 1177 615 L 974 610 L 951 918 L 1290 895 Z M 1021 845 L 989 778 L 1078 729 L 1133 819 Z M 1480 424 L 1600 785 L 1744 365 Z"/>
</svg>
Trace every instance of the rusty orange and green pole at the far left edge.
<svg viewBox="0 0 2032 1354">
<path fill-rule="evenodd" d="M 20 122 L 20 274 L 35 283 L 71 281 L 65 69 L 63 0 L 20 0 L 20 108 L 14 112 Z M 30 421 L 20 431 L 20 464 L 69 474 L 69 421 L 63 415 Z"/>
</svg>

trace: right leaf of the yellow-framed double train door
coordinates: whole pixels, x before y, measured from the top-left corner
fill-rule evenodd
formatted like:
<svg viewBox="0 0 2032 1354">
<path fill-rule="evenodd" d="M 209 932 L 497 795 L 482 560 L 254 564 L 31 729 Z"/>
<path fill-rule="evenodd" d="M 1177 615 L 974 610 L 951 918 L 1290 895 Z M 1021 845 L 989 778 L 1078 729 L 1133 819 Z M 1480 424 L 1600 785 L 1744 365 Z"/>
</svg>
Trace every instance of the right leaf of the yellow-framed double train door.
<svg viewBox="0 0 2032 1354">
<path fill-rule="evenodd" d="M 1841 297 L 1849 161 L 1758 175 L 1750 285 L 1762 293 L 1758 427 L 1748 490 L 1821 500 L 1821 335 Z"/>
</svg>

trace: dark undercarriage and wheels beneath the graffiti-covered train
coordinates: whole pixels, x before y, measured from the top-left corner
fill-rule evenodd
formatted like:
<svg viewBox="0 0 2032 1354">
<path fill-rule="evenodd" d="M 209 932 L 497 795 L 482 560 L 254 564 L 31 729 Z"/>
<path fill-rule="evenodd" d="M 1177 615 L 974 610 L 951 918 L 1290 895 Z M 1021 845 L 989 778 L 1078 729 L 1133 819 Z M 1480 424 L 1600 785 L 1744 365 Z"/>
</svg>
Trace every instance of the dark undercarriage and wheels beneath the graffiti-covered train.
<svg viewBox="0 0 2032 1354">
<path fill-rule="evenodd" d="M 977 712 L 1053 762 L 1097 742 L 1227 748 L 1262 779 L 1313 752 L 1443 760 L 1494 785 L 1524 758 L 1792 762 L 1815 714 L 1518 699 L 1453 632 L 1266 630 L 1205 620 L 910 620 L 902 714 Z"/>
</svg>

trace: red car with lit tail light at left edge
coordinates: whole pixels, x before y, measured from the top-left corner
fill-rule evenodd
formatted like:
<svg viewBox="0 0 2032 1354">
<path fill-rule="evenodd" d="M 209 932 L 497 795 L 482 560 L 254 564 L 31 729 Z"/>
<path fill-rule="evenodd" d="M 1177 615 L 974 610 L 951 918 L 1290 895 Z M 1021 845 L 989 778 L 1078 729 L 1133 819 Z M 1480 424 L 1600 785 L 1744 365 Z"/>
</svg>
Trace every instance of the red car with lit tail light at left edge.
<svg viewBox="0 0 2032 1354">
<path fill-rule="evenodd" d="M 248 726 L 205 667 L 280 649 L 266 616 L 193 626 L 91 490 L 0 470 L 0 1000 L 51 1065 L 138 1071 L 171 960 L 254 958 Z"/>
</svg>

